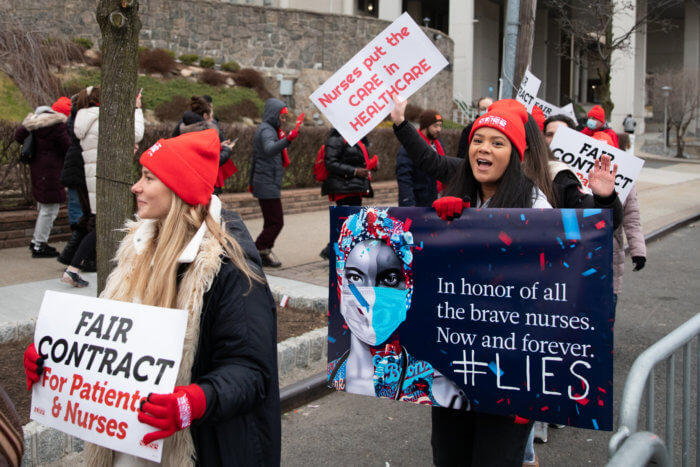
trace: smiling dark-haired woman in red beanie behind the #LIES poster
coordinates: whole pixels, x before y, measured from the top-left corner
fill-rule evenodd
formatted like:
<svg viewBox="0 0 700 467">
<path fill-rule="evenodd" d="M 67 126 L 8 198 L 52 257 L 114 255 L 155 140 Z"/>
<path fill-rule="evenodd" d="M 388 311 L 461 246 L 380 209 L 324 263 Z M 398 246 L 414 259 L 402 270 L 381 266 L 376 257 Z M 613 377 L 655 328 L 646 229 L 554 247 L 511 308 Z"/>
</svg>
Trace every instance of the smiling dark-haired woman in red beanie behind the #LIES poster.
<svg viewBox="0 0 700 467">
<path fill-rule="evenodd" d="M 520 106 L 522 107 L 522 106 Z M 525 108 L 500 106 L 479 117 L 469 135 L 466 159 L 438 156 L 404 119 L 406 102 L 394 97 L 394 134 L 416 167 L 445 183 L 433 203 L 444 220 L 464 207 L 551 208 L 521 168 L 526 148 Z M 469 396 L 467 394 L 467 396 Z M 513 416 L 434 407 L 433 462 L 437 466 L 521 466 L 532 422 Z"/>
</svg>

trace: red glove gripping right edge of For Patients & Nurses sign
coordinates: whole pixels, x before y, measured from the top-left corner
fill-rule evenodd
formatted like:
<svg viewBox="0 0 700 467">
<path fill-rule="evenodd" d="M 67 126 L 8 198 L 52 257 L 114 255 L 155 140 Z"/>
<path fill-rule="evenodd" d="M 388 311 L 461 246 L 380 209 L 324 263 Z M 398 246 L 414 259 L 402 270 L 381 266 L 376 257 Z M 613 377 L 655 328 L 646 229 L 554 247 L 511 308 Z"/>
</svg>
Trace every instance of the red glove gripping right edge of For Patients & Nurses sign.
<svg viewBox="0 0 700 467">
<path fill-rule="evenodd" d="M 144 444 L 151 444 L 187 428 L 193 420 L 202 418 L 206 408 L 204 391 L 196 384 L 175 386 L 175 392 L 171 394 L 149 394 L 146 401 L 141 403 L 138 418 L 141 423 L 160 428 L 160 431 L 144 436 Z"/>
</svg>

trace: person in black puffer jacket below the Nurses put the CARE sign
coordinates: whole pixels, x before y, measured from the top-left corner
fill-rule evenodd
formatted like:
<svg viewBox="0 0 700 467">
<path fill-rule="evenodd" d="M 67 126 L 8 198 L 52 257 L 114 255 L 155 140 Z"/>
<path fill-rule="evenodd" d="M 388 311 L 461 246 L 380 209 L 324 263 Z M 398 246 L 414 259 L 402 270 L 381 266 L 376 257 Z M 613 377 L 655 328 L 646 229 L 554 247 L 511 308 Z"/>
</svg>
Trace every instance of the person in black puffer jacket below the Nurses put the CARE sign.
<svg viewBox="0 0 700 467">
<path fill-rule="evenodd" d="M 328 195 L 336 206 L 362 206 L 362 198 L 374 196 L 371 171 L 377 167 L 377 156 L 371 159 L 367 152 L 369 141 L 362 138 L 350 146 L 335 128 L 331 129 L 325 144 L 324 162 L 328 177 L 323 181 L 321 194 Z M 330 257 L 330 243 L 321 251 L 321 258 Z"/>
</svg>

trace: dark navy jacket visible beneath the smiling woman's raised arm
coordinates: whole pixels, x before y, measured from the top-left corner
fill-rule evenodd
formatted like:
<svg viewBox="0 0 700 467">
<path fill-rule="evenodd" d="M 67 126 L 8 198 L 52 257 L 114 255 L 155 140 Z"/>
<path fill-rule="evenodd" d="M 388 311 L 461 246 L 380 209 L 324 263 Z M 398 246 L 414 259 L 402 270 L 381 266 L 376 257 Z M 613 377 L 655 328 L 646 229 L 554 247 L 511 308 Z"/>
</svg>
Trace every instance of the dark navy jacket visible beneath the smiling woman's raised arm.
<svg viewBox="0 0 700 467">
<path fill-rule="evenodd" d="M 399 207 L 430 207 L 437 199 L 437 181 L 413 165 L 403 146 L 396 157 Z"/>
</svg>

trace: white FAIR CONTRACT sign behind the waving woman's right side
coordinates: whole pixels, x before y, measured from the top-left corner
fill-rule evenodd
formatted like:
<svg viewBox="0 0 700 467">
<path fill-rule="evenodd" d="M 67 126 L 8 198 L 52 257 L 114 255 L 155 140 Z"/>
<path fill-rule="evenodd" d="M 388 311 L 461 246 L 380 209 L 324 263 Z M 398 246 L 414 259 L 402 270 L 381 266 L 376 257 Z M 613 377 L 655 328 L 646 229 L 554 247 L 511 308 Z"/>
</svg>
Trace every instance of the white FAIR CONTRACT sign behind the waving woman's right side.
<svg viewBox="0 0 700 467">
<path fill-rule="evenodd" d="M 588 172 L 593 168 L 595 160 L 603 154 L 610 156 L 611 163 L 618 165 L 615 191 L 623 203 L 644 165 L 643 159 L 566 126 L 557 129 L 549 147 L 557 159 L 576 172 L 585 187 L 588 187 Z"/>
</svg>

